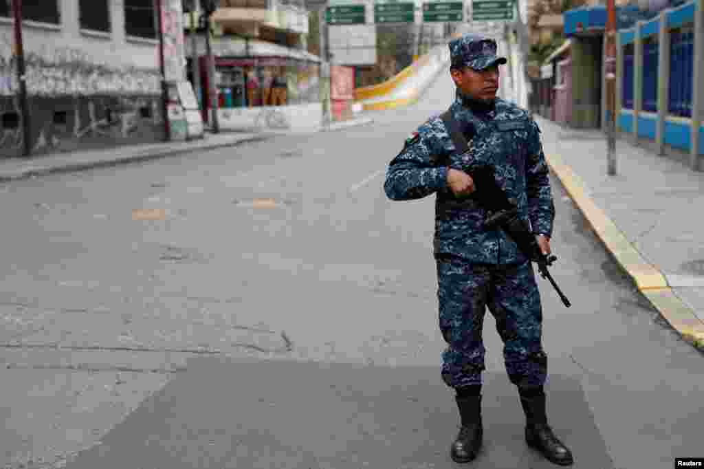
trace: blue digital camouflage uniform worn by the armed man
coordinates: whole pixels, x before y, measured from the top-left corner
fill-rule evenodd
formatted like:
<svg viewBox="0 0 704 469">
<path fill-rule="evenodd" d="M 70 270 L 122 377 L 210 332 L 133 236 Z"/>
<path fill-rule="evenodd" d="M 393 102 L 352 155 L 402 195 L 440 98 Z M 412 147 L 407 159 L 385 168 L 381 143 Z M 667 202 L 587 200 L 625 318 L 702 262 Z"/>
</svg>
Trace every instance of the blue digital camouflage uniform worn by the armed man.
<svg viewBox="0 0 704 469">
<path fill-rule="evenodd" d="M 458 41 L 450 44 L 453 61 L 458 55 L 453 43 Z M 493 62 L 484 61 L 484 66 L 500 60 L 494 55 Z M 547 356 L 541 346 L 542 310 L 532 264 L 502 230 L 484 230 L 486 211 L 471 196 L 455 198 L 446 182 L 448 168 L 471 175 L 476 165 L 492 165 L 496 182 L 515 199 L 532 230 L 551 236 L 555 212 L 540 130 L 526 111 L 501 99 L 494 108 L 477 112 L 458 94 L 451 112 L 465 135 L 470 126 L 474 128 L 470 151 L 457 154 L 441 118 L 430 118 L 389 163 L 384 183 L 392 200 L 436 194 L 439 323 L 448 343 L 442 377 L 455 388 L 482 383 L 482 325 L 488 307 L 504 342 L 510 381 L 542 385 Z"/>
</svg>

